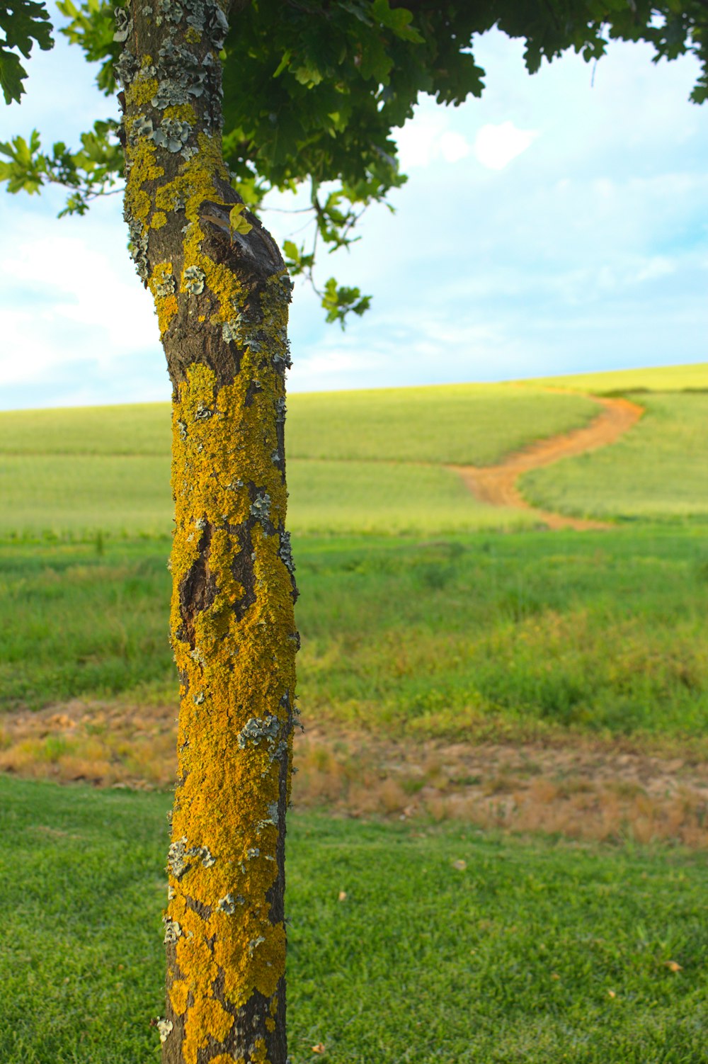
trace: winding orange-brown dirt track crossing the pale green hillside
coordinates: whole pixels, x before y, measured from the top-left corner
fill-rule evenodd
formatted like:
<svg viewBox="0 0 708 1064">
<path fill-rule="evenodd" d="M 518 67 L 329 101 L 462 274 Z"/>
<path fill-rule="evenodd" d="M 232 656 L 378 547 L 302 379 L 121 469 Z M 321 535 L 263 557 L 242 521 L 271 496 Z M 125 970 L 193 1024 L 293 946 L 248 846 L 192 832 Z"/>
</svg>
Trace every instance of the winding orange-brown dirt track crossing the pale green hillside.
<svg viewBox="0 0 708 1064">
<path fill-rule="evenodd" d="M 551 390 L 551 389 L 549 389 Z M 556 389 L 554 389 L 556 390 Z M 562 514 L 537 510 L 526 502 L 517 487 L 517 480 L 529 469 L 551 465 L 560 459 L 594 451 L 599 447 L 613 444 L 628 429 L 637 423 L 644 413 L 643 408 L 628 399 L 601 399 L 599 396 L 587 396 L 602 408 L 602 413 L 585 429 L 574 429 L 561 436 L 551 436 L 539 439 L 530 447 L 510 454 L 504 462 L 495 466 L 448 466 L 459 473 L 465 484 L 481 502 L 492 506 L 507 506 L 516 510 L 530 510 L 538 515 L 551 529 L 604 529 L 602 521 L 584 520 L 577 517 L 564 517 Z"/>
</svg>

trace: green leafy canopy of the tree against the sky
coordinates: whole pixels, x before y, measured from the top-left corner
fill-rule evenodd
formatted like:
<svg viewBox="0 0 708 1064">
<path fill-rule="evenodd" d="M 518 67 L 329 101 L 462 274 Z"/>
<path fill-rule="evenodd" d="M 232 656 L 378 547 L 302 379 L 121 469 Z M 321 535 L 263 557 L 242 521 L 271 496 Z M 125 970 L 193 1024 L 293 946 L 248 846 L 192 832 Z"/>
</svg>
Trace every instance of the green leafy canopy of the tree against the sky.
<svg viewBox="0 0 708 1064">
<path fill-rule="evenodd" d="M 179 0 L 175 0 L 179 2 Z M 85 57 L 101 65 L 105 96 L 121 45 L 114 40 L 115 0 L 58 0 L 60 27 Z M 611 39 L 644 40 L 654 62 L 693 53 L 701 70 L 691 99 L 708 97 L 706 0 L 236 0 L 223 52 L 224 155 L 234 187 L 257 210 L 272 188 L 305 183 L 314 221 L 311 244 L 285 244 L 291 273 L 313 279 L 318 242 L 330 252 L 349 247 L 363 210 L 385 202 L 406 180 L 392 131 L 412 115 L 421 93 L 457 105 L 481 96 L 484 70 L 473 55 L 476 35 L 498 27 L 525 40 L 530 73 L 543 60 L 574 49 L 600 59 Z M 13 49 L 33 40 L 50 48 L 43 2 L 0 7 L 0 81 L 5 100 L 19 100 L 26 77 Z M 83 214 L 90 200 L 121 182 L 118 123 L 97 121 L 81 147 L 43 149 L 33 131 L 0 144 L 7 162 L 0 181 L 10 192 L 36 193 L 48 182 L 68 192 L 65 212 Z M 320 293 L 328 320 L 369 305 L 358 288 L 330 279 Z"/>
</svg>

